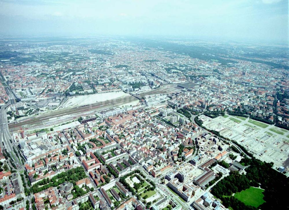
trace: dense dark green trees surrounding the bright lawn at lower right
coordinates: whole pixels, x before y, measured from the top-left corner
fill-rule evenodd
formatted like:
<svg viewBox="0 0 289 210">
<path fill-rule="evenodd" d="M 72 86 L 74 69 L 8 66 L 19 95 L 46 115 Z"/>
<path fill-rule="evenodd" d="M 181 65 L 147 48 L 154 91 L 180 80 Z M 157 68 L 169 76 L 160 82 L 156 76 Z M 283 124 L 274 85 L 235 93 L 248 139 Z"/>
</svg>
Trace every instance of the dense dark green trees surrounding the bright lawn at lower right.
<svg viewBox="0 0 289 210">
<path fill-rule="evenodd" d="M 261 185 L 265 191 L 265 203 L 258 208 L 261 209 L 286 209 L 286 193 L 284 189 L 289 187 L 289 181 L 286 176 L 272 168 L 273 163 L 266 163 L 255 159 L 254 157 L 243 158 L 242 165 L 250 165 L 246 168 L 246 175 L 238 172 L 230 172 L 229 176 L 219 181 L 212 187 L 212 194 L 223 201 L 225 207 L 233 209 L 256 209 L 255 207 L 246 206 L 241 201 L 232 197 L 232 193 L 240 192 L 250 186 L 258 187 Z M 231 196 L 231 197 L 224 197 Z"/>
</svg>

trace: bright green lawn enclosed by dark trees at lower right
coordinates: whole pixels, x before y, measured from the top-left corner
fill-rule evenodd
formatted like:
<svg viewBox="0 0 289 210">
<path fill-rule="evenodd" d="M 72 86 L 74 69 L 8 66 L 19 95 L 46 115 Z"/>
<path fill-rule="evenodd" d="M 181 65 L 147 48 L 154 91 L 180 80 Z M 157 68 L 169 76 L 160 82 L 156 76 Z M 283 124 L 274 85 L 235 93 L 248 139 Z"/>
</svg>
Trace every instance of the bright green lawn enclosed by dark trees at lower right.
<svg viewBox="0 0 289 210">
<path fill-rule="evenodd" d="M 263 200 L 264 197 L 262 193 L 263 191 L 264 189 L 250 187 L 249 189 L 235 193 L 234 197 L 244 202 L 244 204 L 246 205 L 258 207 L 259 205 L 265 202 Z"/>
</svg>

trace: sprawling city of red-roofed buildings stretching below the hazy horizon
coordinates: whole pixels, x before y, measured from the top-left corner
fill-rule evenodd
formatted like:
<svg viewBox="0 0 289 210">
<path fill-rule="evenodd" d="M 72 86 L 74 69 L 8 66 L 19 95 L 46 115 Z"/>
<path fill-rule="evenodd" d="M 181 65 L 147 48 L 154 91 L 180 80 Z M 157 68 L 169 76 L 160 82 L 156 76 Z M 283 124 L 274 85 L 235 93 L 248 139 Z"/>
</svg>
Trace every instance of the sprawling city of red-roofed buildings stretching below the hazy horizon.
<svg viewBox="0 0 289 210">
<path fill-rule="evenodd" d="M 138 35 L 1 34 L 0 209 L 288 209 L 288 36 Z"/>
</svg>

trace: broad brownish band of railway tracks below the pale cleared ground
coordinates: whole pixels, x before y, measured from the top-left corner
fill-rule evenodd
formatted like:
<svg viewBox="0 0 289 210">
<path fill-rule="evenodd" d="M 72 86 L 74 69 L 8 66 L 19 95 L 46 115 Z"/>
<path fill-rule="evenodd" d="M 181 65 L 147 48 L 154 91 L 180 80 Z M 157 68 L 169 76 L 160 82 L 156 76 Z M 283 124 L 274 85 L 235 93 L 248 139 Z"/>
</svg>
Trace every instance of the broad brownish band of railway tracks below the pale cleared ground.
<svg viewBox="0 0 289 210">
<path fill-rule="evenodd" d="M 135 100 L 136 98 L 133 96 L 125 96 L 125 97 L 120 97 L 120 98 L 113 99 L 113 100 L 97 102 L 91 105 L 84 105 L 80 107 L 65 108 L 65 109 L 59 109 L 55 111 L 49 111 L 47 113 L 41 114 L 40 116 L 25 118 L 25 119 L 19 120 L 16 123 L 11 123 L 9 124 L 9 129 L 12 132 L 14 132 L 14 131 L 20 130 L 21 127 L 30 128 L 30 127 L 35 126 L 36 124 L 44 125 L 43 121 L 49 121 L 49 119 L 52 119 L 52 118 L 58 118 L 59 119 L 58 123 L 60 124 L 62 122 L 75 120 L 76 117 L 86 115 L 88 112 L 93 112 L 93 111 L 98 111 L 100 109 L 105 109 L 108 107 L 123 105 L 125 103 L 130 103 Z M 65 118 L 61 119 L 63 116 L 65 116 Z"/>
</svg>

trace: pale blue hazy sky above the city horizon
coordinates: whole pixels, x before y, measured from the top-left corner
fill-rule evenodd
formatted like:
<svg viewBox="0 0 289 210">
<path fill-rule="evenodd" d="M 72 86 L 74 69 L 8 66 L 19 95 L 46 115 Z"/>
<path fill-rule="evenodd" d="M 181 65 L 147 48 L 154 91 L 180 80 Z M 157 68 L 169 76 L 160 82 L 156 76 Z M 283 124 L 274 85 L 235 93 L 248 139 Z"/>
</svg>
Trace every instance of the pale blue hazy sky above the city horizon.
<svg viewBox="0 0 289 210">
<path fill-rule="evenodd" d="M 288 0 L 0 0 L 0 34 L 288 42 Z"/>
</svg>

